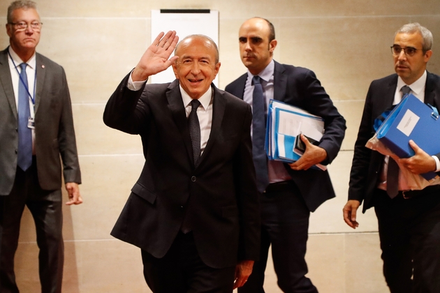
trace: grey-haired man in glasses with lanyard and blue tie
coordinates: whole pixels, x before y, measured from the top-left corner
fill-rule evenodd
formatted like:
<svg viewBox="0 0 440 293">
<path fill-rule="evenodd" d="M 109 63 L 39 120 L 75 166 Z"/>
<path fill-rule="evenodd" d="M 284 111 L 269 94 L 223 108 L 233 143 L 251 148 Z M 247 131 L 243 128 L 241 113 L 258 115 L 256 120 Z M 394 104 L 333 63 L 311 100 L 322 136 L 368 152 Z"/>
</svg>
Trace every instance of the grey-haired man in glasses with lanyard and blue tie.
<svg viewBox="0 0 440 293">
<path fill-rule="evenodd" d="M 36 53 L 41 21 L 33 1 L 8 7 L 10 45 L 0 52 L 0 292 L 19 292 L 14 255 L 27 206 L 40 249 L 41 292 L 61 292 L 64 244 L 61 176 L 66 204 L 82 198 L 66 74 Z M 61 167 L 62 164 L 62 167 Z"/>
</svg>

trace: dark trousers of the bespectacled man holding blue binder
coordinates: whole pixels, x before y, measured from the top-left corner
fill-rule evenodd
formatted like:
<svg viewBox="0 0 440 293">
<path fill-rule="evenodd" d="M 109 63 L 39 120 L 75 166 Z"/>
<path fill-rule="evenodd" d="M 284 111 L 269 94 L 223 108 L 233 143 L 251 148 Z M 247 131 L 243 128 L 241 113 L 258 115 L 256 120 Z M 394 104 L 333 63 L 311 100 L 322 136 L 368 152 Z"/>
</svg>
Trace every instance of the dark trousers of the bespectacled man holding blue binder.
<svg viewBox="0 0 440 293">
<path fill-rule="evenodd" d="M 391 200 L 378 189 L 374 209 L 390 292 L 440 292 L 440 190 Z"/>
</svg>

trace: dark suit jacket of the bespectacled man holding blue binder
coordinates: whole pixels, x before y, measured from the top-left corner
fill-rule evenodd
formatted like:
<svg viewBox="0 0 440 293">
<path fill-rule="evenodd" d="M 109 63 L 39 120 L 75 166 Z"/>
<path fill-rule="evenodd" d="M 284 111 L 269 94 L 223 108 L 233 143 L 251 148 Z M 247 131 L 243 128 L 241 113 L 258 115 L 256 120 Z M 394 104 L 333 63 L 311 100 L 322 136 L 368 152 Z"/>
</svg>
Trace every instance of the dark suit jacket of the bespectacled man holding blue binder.
<svg viewBox="0 0 440 293">
<path fill-rule="evenodd" d="M 353 164 L 351 165 L 349 200 L 364 201 L 363 212 L 373 206 L 373 191 L 377 186 L 384 156 L 365 147 L 373 137 L 374 119 L 393 105 L 397 87 L 397 74 L 374 80 L 367 93 L 364 112 L 360 121 L 358 139 L 355 142 Z M 440 106 L 440 77 L 427 73 L 425 103 Z M 437 154 L 440 158 L 440 153 Z"/>
</svg>

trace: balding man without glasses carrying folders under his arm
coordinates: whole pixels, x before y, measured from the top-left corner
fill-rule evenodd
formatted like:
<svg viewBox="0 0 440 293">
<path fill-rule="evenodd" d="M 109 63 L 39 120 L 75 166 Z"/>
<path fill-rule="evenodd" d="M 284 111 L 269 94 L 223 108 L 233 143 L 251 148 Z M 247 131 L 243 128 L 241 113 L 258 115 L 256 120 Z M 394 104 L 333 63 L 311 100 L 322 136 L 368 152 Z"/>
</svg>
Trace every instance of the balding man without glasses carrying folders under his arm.
<svg viewBox="0 0 440 293">
<path fill-rule="evenodd" d="M 317 292 L 307 273 L 305 253 L 309 215 L 325 200 L 335 197 L 327 165 L 337 156 L 345 133 L 345 119 L 315 74 L 306 68 L 280 64 L 272 59 L 277 40 L 273 25 L 255 17 L 239 31 L 240 55 L 248 72 L 228 84 L 226 91 L 252 106 L 252 149 L 261 199 L 261 255 L 247 284 L 239 292 L 264 292 L 264 272 L 272 245 L 278 285 L 284 292 Z M 325 133 L 318 146 L 302 136 L 306 151 L 290 165 L 269 160 L 264 150 L 265 116 L 270 99 L 295 105 L 322 117 Z"/>
</svg>

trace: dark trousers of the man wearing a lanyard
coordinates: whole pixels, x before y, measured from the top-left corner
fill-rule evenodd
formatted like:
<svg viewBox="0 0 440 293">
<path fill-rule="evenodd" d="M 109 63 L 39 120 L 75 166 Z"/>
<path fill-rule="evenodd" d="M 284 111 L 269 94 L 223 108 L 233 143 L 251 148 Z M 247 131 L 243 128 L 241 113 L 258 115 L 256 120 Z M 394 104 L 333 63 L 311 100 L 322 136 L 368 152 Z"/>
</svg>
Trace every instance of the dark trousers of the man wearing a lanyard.
<svg viewBox="0 0 440 293">
<path fill-rule="evenodd" d="M 36 162 L 26 172 L 17 167 L 10 195 L 3 196 L 0 255 L 0 292 L 19 292 L 15 283 L 14 255 L 20 234 L 20 220 L 27 206 L 34 218 L 37 244 L 40 249 L 39 275 L 41 292 L 61 292 L 64 246 L 62 239 L 61 190 L 42 190 L 38 184 Z"/>
</svg>

